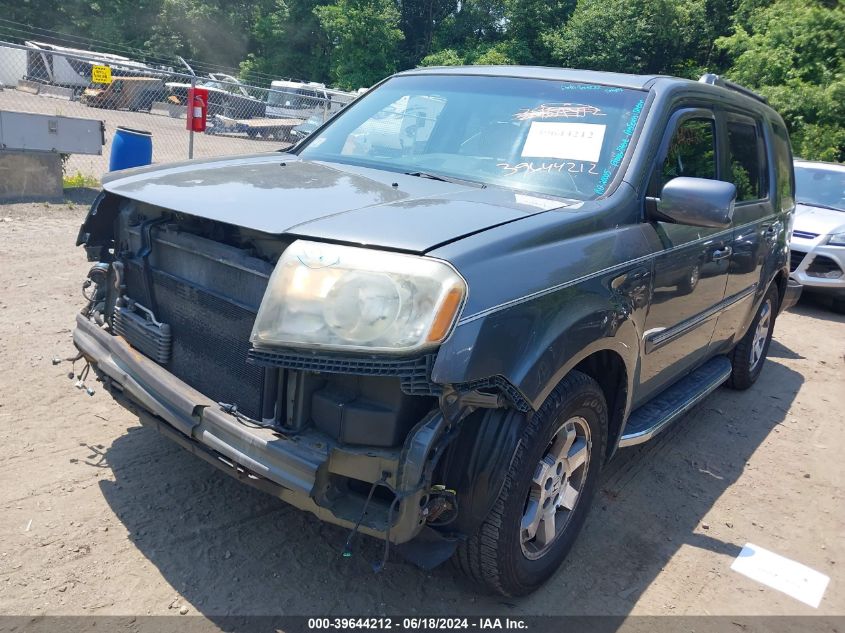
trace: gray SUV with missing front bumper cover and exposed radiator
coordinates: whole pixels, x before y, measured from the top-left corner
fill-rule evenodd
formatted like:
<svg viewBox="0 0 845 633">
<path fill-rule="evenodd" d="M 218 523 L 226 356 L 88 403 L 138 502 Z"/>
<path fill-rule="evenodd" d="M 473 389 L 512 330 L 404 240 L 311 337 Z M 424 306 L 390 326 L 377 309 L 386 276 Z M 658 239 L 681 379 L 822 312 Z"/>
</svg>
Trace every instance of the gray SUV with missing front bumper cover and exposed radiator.
<svg viewBox="0 0 845 633">
<path fill-rule="evenodd" d="M 109 175 L 74 342 L 349 547 L 526 594 L 618 448 L 757 379 L 793 195 L 780 116 L 712 75 L 409 71 L 289 151 Z"/>
</svg>

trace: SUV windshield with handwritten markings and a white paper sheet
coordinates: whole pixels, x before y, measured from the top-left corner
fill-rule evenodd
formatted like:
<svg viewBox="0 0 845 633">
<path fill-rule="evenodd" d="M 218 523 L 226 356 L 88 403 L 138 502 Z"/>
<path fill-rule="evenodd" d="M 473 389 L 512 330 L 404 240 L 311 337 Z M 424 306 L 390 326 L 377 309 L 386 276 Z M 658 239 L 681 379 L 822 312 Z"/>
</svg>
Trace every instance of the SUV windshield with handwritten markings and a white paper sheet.
<svg viewBox="0 0 845 633">
<path fill-rule="evenodd" d="M 394 77 L 299 154 L 590 200 L 619 169 L 645 97 L 541 79 Z"/>
</svg>

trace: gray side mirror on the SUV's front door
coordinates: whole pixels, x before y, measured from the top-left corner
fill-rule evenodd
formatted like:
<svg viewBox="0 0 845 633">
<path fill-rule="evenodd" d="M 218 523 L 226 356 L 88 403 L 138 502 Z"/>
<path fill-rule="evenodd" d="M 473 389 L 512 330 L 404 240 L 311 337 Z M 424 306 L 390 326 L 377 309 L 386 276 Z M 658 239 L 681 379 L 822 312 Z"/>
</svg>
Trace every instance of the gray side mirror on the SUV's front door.
<svg viewBox="0 0 845 633">
<path fill-rule="evenodd" d="M 670 222 L 724 229 L 734 214 L 736 187 L 707 178 L 673 178 L 660 192 L 657 215 Z"/>
</svg>

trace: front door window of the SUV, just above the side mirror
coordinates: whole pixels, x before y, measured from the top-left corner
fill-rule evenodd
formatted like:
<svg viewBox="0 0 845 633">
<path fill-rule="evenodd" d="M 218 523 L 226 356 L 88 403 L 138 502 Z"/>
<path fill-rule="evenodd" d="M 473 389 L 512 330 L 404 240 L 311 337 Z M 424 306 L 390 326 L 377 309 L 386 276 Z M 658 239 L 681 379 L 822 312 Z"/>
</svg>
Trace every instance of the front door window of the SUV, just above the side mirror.
<svg viewBox="0 0 845 633">
<path fill-rule="evenodd" d="M 716 131 L 711 119 L 687 119 L 675 131 L 660 167 L 659 186 L 679 176 L 716 179 Z"/>
</svg>

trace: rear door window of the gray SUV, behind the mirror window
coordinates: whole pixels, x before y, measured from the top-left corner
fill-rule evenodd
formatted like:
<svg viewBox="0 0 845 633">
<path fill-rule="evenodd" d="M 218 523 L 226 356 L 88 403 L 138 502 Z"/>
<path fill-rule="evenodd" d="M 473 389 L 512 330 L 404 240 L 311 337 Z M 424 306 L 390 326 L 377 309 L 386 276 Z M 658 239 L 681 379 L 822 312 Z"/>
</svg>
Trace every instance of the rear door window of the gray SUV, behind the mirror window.
<svg viewBox="0 0 845 633">
<path fill-rule="evenodd" d="M 761 200 L 768 189 L 763 138 L 752 121 L 728 121 L 728 179 L 736 185 L 736 201 Z"/>
</svg>

